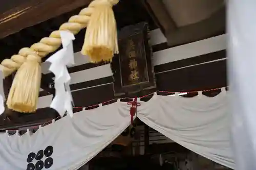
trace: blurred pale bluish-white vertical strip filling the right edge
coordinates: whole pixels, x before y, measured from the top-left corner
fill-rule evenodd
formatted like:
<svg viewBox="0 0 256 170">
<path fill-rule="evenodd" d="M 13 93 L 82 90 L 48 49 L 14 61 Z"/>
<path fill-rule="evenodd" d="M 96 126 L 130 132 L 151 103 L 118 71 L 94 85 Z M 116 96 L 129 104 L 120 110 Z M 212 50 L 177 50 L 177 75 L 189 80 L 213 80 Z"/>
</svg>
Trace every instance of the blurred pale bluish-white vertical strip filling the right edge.
<svg viewBox="0 0 256 170">
<path fill-rule="evenodd" d="M 228 76 L 236 169 L 256 169 L 256 1 L 228 1 Z"/>
</svg>

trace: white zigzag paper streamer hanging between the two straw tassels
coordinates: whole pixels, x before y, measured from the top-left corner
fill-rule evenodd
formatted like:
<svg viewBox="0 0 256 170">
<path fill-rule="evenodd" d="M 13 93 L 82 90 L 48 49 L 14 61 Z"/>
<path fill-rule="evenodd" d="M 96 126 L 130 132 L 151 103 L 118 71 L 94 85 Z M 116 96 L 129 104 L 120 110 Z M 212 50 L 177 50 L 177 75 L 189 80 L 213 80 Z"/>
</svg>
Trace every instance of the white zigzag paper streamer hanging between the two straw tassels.
<svg viewBox="0 0 256 170">
<path fill-rule="evenodd" d="M 49 70 L 55 75 L 55 97 L 50 105 L 55 109 L 60 116 L 63 116 L 67 111 L 73 116 L 73 100 L 70 90 L 70 80 L 67 66 L 74 64 L 74 51 L 72 40 L 74 35 L 68 31 L 61 31 L 60 33 L 63 48 L 53 54 L 46 61 L 51 62 Z"/>
</svg>

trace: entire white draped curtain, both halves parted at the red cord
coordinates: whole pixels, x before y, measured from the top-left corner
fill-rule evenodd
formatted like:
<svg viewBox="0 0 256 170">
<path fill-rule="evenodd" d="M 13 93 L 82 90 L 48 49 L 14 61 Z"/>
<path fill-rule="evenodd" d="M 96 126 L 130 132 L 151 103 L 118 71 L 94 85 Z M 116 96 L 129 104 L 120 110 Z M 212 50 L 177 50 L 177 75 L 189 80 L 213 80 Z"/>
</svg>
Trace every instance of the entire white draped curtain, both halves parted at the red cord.
<svg viewBox="0 0 256 170">
<path fill-rule="evenodd" d="M 140 102 L 137 116 L 185 148 L 233 168 L 227 97 L 225 93 L 214 98 L 154 95 L 150 101 Z M 129 126 L 130 107 L 116 102 L 81 111 L 73 118 L 66 116 L 34 134 L 0 134 L 0 169 L 26 169 L 31 152 L 39 155 L 30 165 L 50 166 L 52 159 L 49 169 L 78 169 Z M 52 155 L 48 146 L 53 149 Z"/>
</svg>

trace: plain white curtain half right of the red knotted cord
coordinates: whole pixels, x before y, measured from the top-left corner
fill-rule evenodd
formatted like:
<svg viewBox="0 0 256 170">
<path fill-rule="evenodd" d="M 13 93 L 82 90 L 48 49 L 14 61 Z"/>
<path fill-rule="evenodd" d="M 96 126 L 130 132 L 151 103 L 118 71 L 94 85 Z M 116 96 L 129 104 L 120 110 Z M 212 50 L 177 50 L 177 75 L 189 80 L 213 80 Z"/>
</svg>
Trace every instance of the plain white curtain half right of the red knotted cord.
<svg viewBox="0 0 256 170">
<path fill-rule="evenodd" d="M 214 98 L 159 96 L 142 103 L 137 116 L 166 137 L 212 161 L 234 168 L 225 92 Z"/>
</svg>

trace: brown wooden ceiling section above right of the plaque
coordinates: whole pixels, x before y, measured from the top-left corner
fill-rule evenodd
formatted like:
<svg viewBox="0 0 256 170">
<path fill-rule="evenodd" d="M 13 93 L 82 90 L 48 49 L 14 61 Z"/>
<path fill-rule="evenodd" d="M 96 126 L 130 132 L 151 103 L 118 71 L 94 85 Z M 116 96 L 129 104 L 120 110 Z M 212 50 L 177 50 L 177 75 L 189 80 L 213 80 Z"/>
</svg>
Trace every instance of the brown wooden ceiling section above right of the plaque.
<svg viewBox="0 0 256 170">
<path fill-rule="evenodd" d="M 169 46 L 194 42 L 225 32 L 224 0 L 141 0 Z"/>
</svg>

